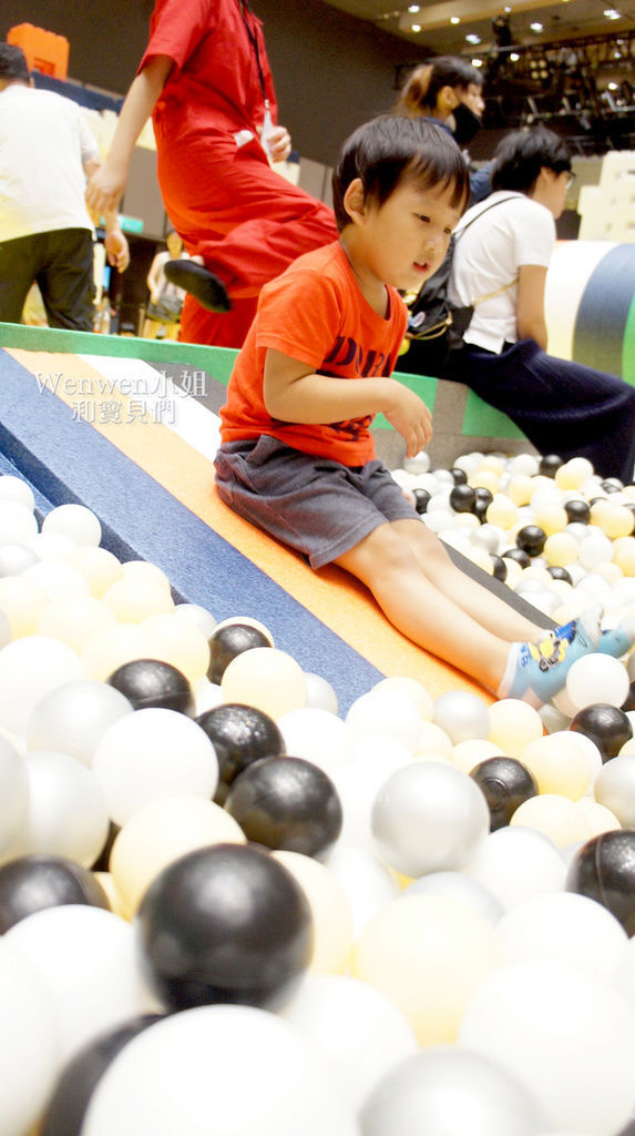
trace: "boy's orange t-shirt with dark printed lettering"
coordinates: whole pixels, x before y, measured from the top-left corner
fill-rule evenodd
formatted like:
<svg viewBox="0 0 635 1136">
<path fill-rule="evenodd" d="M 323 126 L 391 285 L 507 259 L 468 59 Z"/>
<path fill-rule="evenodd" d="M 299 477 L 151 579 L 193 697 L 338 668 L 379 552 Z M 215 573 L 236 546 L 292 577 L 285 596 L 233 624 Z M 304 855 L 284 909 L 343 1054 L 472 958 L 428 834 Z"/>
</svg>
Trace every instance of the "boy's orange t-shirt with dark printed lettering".
<svg viewBox="0 0 635 1136">
<path fill-rule="evenodd" d="M 382 318 L 362 295 L 339 241 L 305 253 L 265 284 L 220 411 L 222 441 L 270 434 L 303 453 L 345 466 L 363 466 L 374 458 L 373 415 L 323 425 L 271 418 L 263 402 L 264 360 L 272 348 L 319 375 L 390 375 L 407 312 L 399 293 L 387 291 L 388 315 Z"/>
</svg>

